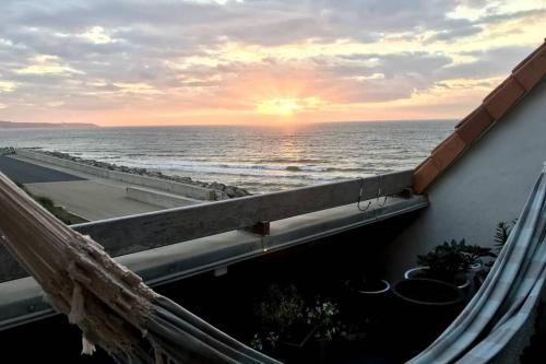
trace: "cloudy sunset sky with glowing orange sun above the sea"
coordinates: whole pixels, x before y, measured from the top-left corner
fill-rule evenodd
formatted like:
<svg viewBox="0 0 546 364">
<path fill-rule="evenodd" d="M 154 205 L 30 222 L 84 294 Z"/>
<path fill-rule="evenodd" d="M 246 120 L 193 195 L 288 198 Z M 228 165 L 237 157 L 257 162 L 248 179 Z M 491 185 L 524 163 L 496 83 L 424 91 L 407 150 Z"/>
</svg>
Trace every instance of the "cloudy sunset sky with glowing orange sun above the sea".
<svg viewBox="0 0 546 364">
<path fill-rule="evenodd" d="M 2 0 L 0 120 L 458 119 L 545 30 L 544 0 Z"/>
</svg>

